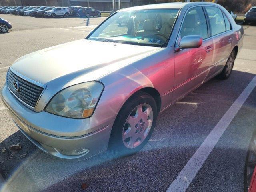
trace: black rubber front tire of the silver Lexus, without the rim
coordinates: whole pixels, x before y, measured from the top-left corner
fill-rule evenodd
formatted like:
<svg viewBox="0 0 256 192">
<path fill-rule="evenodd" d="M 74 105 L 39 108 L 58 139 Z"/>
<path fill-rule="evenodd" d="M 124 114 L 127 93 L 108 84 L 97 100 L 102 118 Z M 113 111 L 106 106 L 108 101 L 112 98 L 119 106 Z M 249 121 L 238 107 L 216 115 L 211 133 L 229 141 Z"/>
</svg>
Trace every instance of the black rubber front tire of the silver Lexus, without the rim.
<svg viewBox="0 0 256 192">
<path fill-rule="evenodd" d="M 127 148 L 124 145 L 124 142 L 122 139 L 123 129 L 126 124 L 126 119 L 128 118 L 128 116 L 140 104 L 147 104 L 152 108 L 152 112 L 153 112 L 152 126 L 146 138 L 138 146 L 134 148 Z M 143 146 L 148 142 L 148 140 L 150 139 L 154 131 L 157 116 L 158 116 L 158 110 L 157 110 L 157 105 L 154 98 L 150 94 L 147 94 L 145 92 L 135 93 L 126 101 L 126 103 L 122 106 L 120 112 L 116 116 L 116 120 L 114 122 L 111 135 L 110 135 L 108 149 L 117 156 L 130 155 L 141 150 Z"/>
</svg>

